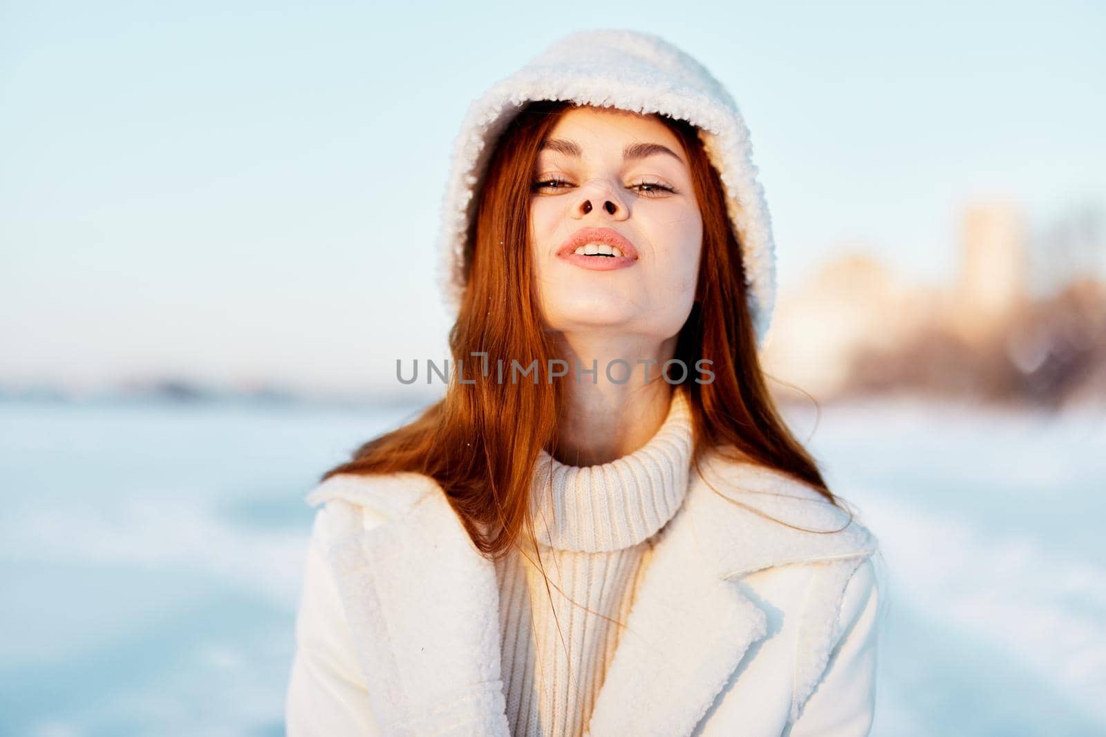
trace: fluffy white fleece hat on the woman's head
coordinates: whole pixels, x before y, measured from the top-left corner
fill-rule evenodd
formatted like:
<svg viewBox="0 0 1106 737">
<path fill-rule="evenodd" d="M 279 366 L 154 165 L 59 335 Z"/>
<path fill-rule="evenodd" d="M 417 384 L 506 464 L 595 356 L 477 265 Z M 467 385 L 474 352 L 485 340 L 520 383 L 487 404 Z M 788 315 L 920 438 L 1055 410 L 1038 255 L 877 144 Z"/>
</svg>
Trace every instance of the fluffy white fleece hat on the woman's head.
<svg viewBox="0 0 1106 737">
<path fill-rule="evenodd" d="M 699 128 L 726 188 L 742 248 L 749 310 L 763 346 L 775 302 L 775 245 L 749 129 L 733 98 L 702 64 L 660 36 L 638 31 L 566 35 L 470 105 L 441 209 L 439 282 L 450 306 L 460 304 L 465 289 L 465 241 L 493 144 L 528 102 L 540 99 L 660 113 Z"/>
</svg>

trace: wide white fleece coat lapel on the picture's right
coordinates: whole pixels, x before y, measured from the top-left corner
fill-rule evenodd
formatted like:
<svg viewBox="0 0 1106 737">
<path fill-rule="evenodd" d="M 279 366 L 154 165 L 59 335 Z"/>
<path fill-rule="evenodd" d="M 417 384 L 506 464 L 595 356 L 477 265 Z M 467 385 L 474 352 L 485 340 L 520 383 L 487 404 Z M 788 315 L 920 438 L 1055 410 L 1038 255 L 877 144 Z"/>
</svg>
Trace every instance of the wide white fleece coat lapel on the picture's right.
<svg viewBox="0 0 1106 737">
<path fill-rule="evenodd" d="M 589 737 L 691 734 L 750 645 L 768 633 L 765 611 L 737 579 L 772 566 L 859 560 L 874 547 L 867 529 L 846 527 L 841 509 L 781 474 L 717 454 L 703 460 L 701 472 L 692 473 L 680 514 L 660 533 Z M 845 529 L 803 531 L 758 512 L 806 529 Z"/>
</svg>

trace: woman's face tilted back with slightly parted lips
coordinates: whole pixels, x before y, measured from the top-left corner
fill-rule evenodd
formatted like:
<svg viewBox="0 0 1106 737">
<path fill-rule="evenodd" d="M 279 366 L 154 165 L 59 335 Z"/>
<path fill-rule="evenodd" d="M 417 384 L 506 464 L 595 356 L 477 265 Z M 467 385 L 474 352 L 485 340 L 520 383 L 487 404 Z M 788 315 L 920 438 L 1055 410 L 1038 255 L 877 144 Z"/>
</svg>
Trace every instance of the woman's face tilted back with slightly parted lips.
<svg viewBox="0 0 1106 737">
<path fill-rule="evenodd" d="M 655 116 L 570 108 L 533 182 L 530 239 L 546 327 L 660 340 L 679 333 L 695 299 L 702 218 L 676 135 Z"/>
</svg>

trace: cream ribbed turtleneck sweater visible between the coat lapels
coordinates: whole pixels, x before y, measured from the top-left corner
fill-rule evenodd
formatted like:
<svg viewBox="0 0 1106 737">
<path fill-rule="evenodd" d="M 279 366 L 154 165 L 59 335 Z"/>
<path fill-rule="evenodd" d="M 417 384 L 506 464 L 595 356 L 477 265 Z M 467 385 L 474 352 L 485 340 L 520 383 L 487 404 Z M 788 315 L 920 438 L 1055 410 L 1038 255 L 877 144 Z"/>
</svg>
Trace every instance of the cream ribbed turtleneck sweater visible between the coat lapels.
<svg viewBox="0 0 1106 737">
<path fill-rule="evenodd" d="M 544 451 L 539 456 L 536 550 L 523 533 L 520 544 L 530 560 L 514 549 L 495 562 L 507 717 L 514 737 L 583 734 L 653 538 L 687 495 L 690 462 L 690 407 L 678 387 L 660 429 L 629 455 L 586 467 L 565 465 Z"/>
</svg>

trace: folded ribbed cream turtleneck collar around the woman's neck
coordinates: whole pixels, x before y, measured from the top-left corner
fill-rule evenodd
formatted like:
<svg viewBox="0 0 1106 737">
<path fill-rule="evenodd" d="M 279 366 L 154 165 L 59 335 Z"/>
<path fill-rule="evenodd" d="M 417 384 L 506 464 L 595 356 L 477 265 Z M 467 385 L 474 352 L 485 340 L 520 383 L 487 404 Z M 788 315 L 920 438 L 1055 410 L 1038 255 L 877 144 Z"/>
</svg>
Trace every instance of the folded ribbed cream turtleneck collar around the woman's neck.
<svg viewBox="0 0 1106 737">
<path fill-rule="evenodd" d="M 691 408 L 679 387 L 672 388 L 668 414 L 656 434 L 628 455 L 572 466 L 541 451 L 534 466 L 538 543 L 608 552 L 646 540 L 684 503 L 690 463 Z"/>
</svg>

